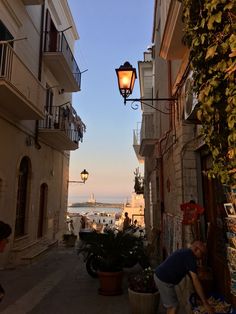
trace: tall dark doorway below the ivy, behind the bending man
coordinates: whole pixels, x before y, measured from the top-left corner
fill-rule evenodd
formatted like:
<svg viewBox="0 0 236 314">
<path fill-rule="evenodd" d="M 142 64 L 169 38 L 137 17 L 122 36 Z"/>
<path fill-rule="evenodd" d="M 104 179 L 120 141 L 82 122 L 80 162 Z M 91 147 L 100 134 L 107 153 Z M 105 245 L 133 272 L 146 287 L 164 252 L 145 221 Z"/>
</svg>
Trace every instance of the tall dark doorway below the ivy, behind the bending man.
<svg viewBox="0 0 236 314">
<path fill-rule="evenodd" d="M 217 179 L 208 179 L 204 175 L 212 167 L 212 157 L 203 155 L 202 182 L 203 199 L 205 208 L 205 221 L 208 243 L 208 266 L 213 269 L 214 284 L 222 295 L 227 295 L 230 300 L 230 278 L 226 254 L 226 229 L 224 226 L 223 204 L 227 202 L 223 186 Z"/>
</svg>

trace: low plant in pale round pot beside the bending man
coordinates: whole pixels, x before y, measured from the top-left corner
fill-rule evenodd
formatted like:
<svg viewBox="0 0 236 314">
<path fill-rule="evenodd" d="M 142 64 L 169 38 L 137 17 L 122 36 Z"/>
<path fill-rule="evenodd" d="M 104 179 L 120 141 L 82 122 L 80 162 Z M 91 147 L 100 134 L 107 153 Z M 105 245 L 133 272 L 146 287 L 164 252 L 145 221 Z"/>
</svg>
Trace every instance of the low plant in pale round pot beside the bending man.
<svg viewBox="0 0 236 314">
<path fill-rule="evenodd" d="M 128 278 L 128 293 L 132 314 L 157 313 L 160 295 L 153 276 L 153 270 L 148 267 Z"/>
</svg>

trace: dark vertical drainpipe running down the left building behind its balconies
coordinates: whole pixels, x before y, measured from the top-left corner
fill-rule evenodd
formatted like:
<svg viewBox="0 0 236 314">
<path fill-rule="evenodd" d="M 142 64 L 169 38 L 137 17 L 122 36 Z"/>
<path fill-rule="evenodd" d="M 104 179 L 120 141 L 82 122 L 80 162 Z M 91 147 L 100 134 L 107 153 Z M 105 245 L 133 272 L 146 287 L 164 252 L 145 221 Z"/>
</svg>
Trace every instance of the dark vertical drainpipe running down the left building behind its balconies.
<svg viewBox="0 0 236 314">
<path fill-rule="evenodd" d="M 41 82 L 42 80 L 42 62 L 43 62 L 43 28 L 44 28 L 44 11 L 45 11 L 45 1 L 41 6 L 41 26 L 40 26 L 40 42 L 39 42 L 39 67 L 38 67 L 38 80 Z M 41 148 L 41 145 L 38 141 L 38 133 L 39 133 L 39 120 L 36 120 L 35 123 L 35 147 L 37 149 Z"/>
</svg>

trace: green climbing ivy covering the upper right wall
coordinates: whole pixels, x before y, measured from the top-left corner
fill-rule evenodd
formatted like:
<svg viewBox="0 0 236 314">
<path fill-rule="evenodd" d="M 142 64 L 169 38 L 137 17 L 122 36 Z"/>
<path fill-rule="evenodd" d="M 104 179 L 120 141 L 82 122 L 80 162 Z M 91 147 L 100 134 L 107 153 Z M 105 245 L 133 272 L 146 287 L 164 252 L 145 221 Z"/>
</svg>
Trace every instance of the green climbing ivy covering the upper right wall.
<svg viewBox="0 0 236 314">
<path fill-rule="evenodd" d="M 197 115 L 213 158 L 208 176 L 236 184 L 236 1 L 181 2 Z"/>
</svg>

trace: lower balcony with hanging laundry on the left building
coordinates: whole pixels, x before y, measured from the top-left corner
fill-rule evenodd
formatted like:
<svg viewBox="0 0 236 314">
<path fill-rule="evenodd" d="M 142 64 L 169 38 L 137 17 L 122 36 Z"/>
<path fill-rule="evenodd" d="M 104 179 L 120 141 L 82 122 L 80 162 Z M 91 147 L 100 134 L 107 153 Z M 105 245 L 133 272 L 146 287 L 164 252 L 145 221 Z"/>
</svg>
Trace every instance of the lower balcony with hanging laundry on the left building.
<svg viewBox="0 0 236 314">
<path fill-rule="evenodd" d="M 85 125 L 68 102 L 48 108 L 39 122 L 39 137 L 59 150 L 76 150 L 83 139 Z"/>
</svg>

